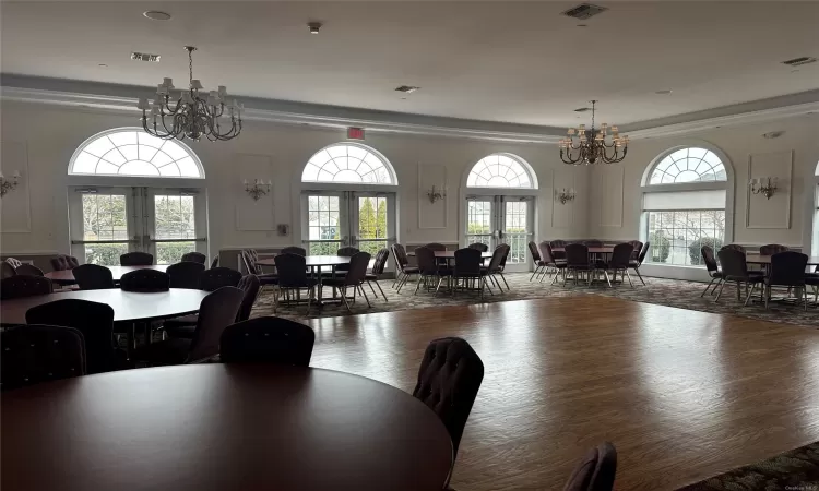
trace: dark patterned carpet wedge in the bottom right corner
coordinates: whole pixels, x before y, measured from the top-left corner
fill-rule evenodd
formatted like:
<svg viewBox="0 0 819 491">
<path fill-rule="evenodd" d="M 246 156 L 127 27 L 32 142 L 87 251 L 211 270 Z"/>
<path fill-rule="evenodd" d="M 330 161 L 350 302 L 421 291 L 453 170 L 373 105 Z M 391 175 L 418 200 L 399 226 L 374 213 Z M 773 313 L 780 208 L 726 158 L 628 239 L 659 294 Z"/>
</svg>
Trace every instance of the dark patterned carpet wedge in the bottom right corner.
<svg viewBox="0 0 819 491">
<path fill-rule="evenodd" d="M 739 467 L 678 491 L 819 490 L 819 442 Z"/>
</svg>

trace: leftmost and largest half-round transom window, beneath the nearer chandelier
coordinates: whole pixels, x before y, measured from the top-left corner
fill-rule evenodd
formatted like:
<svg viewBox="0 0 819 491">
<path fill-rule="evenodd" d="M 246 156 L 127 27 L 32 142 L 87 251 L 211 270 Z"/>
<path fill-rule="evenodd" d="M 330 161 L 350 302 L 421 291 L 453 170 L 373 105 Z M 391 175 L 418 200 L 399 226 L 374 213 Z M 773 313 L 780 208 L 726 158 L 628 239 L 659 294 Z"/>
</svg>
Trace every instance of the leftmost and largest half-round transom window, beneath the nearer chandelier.
<svg viewBox="0 0 819 491">
<path fill-rule="evenodd" d="M 204 179 L 195 154 L 176 140 L 161 140 L 135 128 L 95 134 L 74 152 L 70 175 Z"/>
</svg>

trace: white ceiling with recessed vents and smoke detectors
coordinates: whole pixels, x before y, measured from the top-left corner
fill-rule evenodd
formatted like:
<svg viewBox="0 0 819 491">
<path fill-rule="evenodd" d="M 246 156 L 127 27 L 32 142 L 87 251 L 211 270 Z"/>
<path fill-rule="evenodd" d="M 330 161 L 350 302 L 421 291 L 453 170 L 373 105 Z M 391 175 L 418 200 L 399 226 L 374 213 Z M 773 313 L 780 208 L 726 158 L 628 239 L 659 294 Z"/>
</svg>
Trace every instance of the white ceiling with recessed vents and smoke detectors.
<svg viewBox="0 0 819 491">
<path fill-rule="evenodd" d="M 560 15 L 577 3 L 3 1 L 0 61 L 7 74 L 181 86 L 190 44 L 205 88 L 554 127 L 585 122 L 573 109 L 591 98 L 598 121 L 632 123 L 819 87 L 819 63 L 780 63 L 819 58 L 817 2 L 596 2 L 610 10 L 587 27 Z M 402 100 L 402 84 L 423 88 Z"/>
</svg>

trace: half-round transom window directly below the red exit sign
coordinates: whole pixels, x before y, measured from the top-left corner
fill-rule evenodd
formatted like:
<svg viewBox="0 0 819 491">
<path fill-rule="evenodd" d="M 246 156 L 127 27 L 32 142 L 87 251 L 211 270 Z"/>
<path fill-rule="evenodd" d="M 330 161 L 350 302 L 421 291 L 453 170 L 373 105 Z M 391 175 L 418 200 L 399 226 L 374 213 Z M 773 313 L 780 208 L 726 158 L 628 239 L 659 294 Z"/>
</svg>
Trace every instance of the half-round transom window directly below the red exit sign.
<svg viewBox="0 0 819 491">
<path fill-rule="evenodd" d="M 316 153 L 305 166 L 301 181 L 397 184 L 395 172 L 383 155 L 352 143 L 339 143 Z"/>
</svg>

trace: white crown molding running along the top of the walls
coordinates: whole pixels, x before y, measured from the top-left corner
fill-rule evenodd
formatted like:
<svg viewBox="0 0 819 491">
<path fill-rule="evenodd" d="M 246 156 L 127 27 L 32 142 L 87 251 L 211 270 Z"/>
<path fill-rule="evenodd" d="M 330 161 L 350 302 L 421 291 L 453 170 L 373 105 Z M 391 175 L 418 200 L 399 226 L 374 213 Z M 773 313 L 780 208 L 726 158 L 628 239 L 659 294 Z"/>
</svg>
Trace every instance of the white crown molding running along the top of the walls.
<svg viewBox="0 0 819 491">
<path fill-rule="evenodd" d="M 138 113 L 142 86 L 2 74 L 2 100 Z M 240 97 L 245 120 L 317 128 L 365 128 L 370 133 L 448 136 L 492 142 L 556 144 L 565 129 Z M 819 112 L 819 89 L 621 125 L 631 140 L 676 136 L 715 127 L 752 124 Z"/>
</svg>

